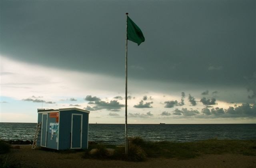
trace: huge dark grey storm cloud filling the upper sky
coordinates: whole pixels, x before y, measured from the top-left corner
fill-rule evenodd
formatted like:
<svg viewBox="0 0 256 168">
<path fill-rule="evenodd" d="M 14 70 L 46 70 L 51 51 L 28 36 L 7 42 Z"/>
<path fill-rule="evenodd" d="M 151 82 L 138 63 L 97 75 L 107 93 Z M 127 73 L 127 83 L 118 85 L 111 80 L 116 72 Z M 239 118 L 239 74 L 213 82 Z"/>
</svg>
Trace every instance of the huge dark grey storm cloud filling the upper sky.
<svg viewBox="0 0 256 168">
<path fill-rule="evenodd" d="M 123 77 L 124 11 L 130 10 L 148 40 L 139 47 L 128 42 L 128 67 L 145 69 L 130 68 L 129 78 L 242 86 L 244 76 L 255 71 L 253 0 L 154 3 L 1 1 L 1 55 L 65 70 Z M 225 73 L 220 73 L 223 70 Z"/>
</svg>

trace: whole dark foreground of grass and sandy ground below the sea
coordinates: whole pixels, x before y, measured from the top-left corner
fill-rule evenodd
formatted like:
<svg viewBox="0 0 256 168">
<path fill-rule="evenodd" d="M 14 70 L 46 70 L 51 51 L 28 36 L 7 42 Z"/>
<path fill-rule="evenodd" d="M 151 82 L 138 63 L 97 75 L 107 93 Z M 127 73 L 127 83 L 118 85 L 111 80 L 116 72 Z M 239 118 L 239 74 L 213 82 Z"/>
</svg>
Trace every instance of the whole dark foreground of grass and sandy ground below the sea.
<svg viewBox="0 0 256 168">
<path fill-rule="evenodd" d="M 93 144 L 88 150 L 79 151 L 56 151 L 43 148 L 32 150 L 31 145 L 20 145 L 20 148 L 12 148 L 10 152 L 0 154 L 0 167 L 256 168 L 256 140 L 213 139 L 180 143 L 147 142 L 141 138 L 133 138 L 130 142 L 128 156 L 124 154 L 123 146 L 104 144 Z M 98 148 L 99 152 L 90 155 L 89 151 L 92 148 Z M 108 156 L 106 148 L 114 148 L 116 152 Z"/>
</svg>

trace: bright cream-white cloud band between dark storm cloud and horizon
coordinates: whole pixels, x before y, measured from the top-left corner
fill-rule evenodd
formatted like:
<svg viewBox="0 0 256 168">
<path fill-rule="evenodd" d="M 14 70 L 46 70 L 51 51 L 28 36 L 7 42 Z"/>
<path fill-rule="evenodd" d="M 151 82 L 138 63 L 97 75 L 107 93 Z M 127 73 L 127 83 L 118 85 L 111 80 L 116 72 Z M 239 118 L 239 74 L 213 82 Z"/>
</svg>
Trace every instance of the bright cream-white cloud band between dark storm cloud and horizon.
<svg viewBox="0 0 256 168">
<path fill-rule="evenodd" d="M 118 113 L 115 113 L 115 109 L 112 109 L 112 112 L 106 108 L 94 109 L 95 104 L 88 104 L 88 101 L 84 100 L 88 95 L 99 98 L 102 103 L 113 102 L 117 98 L 120 98 L 118 102 L 124 105 L 125 100 L 121 99 L 121 97 L 124 98 L 125 83 L 123 78 L 26 64 L 24 62 L 10 60 L 3 56 L 1 56 L 0 70 L 0 96 L 2 98 L 0 100 L 1 122 L 36 122 L 37 108 L 58 109 L 63 107 L 69 108 L 70 105 L 79 105 L 79 108 L 90 109 L 90 123 L 124 123 L 123 106 L 117 109 L 120 110 Z M 191 106 L 188 95 L 190 93 L 195 100 L 200 100 L 202 98 L 202 90 L 207 89 L 208 88 L 185 83 L 165 83 L 129 78 L 128 95 L 131 96 L 132 99 L 128 100 L 128 114 L 130 114 L 128 121 L 130 123 L 196 123 L 197 121 L 209 123 L 220 120 L 220 118 L 214 120 L 181 118 L 182 116 L 200 116 L 197 112 L 202 113 L 202 109 L 205 108 L 205 106 L 202 103 Z M 216 87 L 211 88 L 211 90 L 218 90 L 217 104 L 213 105 L 215 109 L 217 107 L 228 109 L 229 106 L 234 105 L 228 102 L 236 102 L 239 106 L 243 98 L 243 101 L 248 99 L 248 93 L 245 88 Z M 166 110 L 166 108 L 164 108 L 166 105 L 164 102 L 168 100 L 180 100 L 181 92 L 187 95 L 184 99 L 182 109 L 180 109 L 180 107 L 176 110 L 176 115 L 173 115 L 173 112 L 164 112 Z M 134 105 L 138 105 L 138 102 L 145 96 L 145 93 L 148 95 L 148 98 L 142 105 L 149 103 L 150 107 L 152 107 L 150 108 L 152 112 L 146 112 L 145 110 L 147 109 L 145 108 L 134 108 Z M 243 95 L 243 97 L 234 96 L 235 94 Z M 151 100 L 150 97 L 154 98 L 154 104 L 149 102 Z M 6 98 L 9 99 L 7 100 Z M 146 97 L 144 99 L 146 99 Z M 76 100 L 76 103 L 72 100 Z M 55 104 L 53 104 L 54 102 Z M 11 106 L 12 108 L 10 108 Z M 13 111 L 18 111 L 18 113 L 16 114 L 17 117 L 15 116 L 12 119 L 8 114 L 12 114 Z M 136 118 L 136 120 L 134 118 Z M 238 122 L 235 118 L 232 120 Z M 246 122 L 246 120 L 243 122 Z"/>
</svg>

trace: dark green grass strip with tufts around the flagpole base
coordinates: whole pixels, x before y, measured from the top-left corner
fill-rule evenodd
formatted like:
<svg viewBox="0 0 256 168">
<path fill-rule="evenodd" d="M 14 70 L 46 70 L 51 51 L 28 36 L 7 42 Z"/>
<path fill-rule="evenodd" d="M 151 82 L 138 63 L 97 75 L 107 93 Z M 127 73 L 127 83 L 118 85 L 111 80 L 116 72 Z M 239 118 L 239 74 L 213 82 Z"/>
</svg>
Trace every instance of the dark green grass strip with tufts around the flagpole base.
<svg viewBox="0 0 256 168">
<path fill-rule="evenodd" d="M 99 148 L 99 144 L 90 145 L 86 150 L 86 158 L 117 159 L 129 161 L 144 161 L 146 158 L 195 158 L 202 154 L 243 154 L 256 156 L 256 140 L 218 140 L 209 139 L 195 142 L 152 142 L 140 137 L 129 138 L 129 154 L 124 154 L 124 146 L 100 144 L 100 153 L 90 155 L 92 148 Z M 114 148 L 113 156 L 106 156 L 104 149 Z"/>
</svg>

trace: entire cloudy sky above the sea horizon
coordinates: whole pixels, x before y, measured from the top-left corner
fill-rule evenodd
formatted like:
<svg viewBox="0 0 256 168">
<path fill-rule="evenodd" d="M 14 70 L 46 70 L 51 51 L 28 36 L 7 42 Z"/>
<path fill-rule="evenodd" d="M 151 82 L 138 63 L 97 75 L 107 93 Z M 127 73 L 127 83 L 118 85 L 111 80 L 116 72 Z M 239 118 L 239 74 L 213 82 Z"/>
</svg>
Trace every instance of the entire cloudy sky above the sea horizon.
<svg viewBox="0 0 256 168">
<path fill-rule="evenodd" d="M 89 123 L 256 123 L 255 0 L 1 0 L 0 122 L 80 108 Z"/>
</svg>

